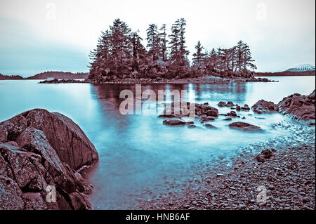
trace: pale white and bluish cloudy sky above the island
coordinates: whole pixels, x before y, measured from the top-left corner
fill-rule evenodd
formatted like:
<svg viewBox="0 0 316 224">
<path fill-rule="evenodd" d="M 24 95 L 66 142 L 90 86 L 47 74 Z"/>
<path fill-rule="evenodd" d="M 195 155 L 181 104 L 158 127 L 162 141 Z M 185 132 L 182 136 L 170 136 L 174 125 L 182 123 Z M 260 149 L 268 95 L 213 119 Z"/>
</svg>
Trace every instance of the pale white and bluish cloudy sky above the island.
<svg viewBox="0 0 316 224">
<path fill-rule="evenodd" d="M 89 51 L 120 18 L 145 39 L 151 23 L 187 20 L 190 54 L 246 42 L 258 72 L 315 65 L 315 0 L 0 0 L 0 73 L 88 72 Z M 145 41 L 143 44 L 146 44 Z"/>
</svg>

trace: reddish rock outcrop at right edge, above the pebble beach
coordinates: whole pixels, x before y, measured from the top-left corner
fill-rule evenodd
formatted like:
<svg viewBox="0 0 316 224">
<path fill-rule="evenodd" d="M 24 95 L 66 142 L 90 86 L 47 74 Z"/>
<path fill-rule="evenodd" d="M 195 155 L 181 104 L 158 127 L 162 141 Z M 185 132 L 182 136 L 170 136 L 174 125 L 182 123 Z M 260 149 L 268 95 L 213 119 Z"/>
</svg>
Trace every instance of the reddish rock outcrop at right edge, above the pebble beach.
<svg viewBox="0 0 316 224">
<path fill-rule="evenodd" d="M 298 93 L 289 95 L 278 104 L 280 112 L 290 114 L 294 119 L 315 120 L 315 90 L 310 95 Z"/>
</svg>

